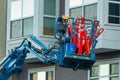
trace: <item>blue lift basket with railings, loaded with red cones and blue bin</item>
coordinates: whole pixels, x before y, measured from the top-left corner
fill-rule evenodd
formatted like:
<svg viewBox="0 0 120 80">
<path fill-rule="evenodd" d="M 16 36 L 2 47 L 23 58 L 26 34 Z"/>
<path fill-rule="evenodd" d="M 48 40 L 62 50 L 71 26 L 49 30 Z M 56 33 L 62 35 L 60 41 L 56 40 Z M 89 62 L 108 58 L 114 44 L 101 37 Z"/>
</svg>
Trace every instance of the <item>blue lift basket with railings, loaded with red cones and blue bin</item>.
<svg viewBox="0 0 120 80">
<path fill-rule="evenodd" d="M 96 61 L 94 48 L 97 37 L 95 37 L 95 33 L 99 21 L 93 22 L 83 17 L 76 20 L 73 18 L 64 20 L 64 18 L 59 17 L 56 24 L 55 34 L 59 36 L 61 42 L 60 66 L 74 70 L 90 69 Z"/>
</svg>

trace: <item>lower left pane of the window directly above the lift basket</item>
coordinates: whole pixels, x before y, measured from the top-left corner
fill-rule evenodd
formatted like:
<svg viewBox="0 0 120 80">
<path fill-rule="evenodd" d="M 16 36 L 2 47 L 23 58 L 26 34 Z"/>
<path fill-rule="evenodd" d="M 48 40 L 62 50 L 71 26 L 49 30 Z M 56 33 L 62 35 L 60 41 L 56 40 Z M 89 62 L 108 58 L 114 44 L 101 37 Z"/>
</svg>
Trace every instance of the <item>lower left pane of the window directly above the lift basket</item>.
<svg viewBox="0 0 120 80">
<path fill-rule="evenodd" d="M 70 16 L 73 18 L 80 18 L 80 16 L 82 16 L 82 7 L 70 9 Z"/>
</svg>

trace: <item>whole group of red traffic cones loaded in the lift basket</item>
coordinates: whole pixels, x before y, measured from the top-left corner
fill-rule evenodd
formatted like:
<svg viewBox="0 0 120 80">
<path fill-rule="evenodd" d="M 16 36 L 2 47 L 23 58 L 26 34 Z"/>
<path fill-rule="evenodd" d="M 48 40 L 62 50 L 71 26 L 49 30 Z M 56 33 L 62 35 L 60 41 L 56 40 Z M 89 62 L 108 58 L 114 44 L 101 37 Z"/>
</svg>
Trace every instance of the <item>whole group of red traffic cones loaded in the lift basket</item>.
<svg viewBox="0 0 120 80">
<path fill-rule="evenodd" d="M 97 37 L 104 31 L 104 28 L 98 29 L 99 22 L 94 22 L 94 31 L 91 31 L 89 34 L 86 30 L 86 23 L 85 19 L 81 17 L 80 19 L 77 19 L 75 22 L 75 26 L 72 24 L 68 25 L 68 28 L 66 30 L 66 35 L 72 37 L 72 44 L 76 45 L 76 54 L 79 55 L 89 55 L 91 45 L 93 44 L 93 38 L 97 39 Z M 92 28 L 92 26 L 91 26 Z M 92 29 L 91 29 L 92 30 Z M 91 34 L 93 34 L 91 36 Z"/>
</svg>

